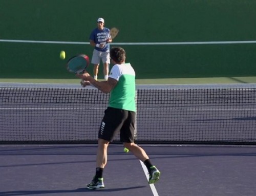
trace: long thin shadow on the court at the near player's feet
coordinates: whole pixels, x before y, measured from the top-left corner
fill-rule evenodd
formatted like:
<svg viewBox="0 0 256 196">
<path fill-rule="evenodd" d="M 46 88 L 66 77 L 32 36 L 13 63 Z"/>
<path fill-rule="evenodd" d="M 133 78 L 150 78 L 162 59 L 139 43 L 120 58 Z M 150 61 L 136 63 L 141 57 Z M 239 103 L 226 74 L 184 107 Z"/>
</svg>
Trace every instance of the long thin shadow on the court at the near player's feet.
<svg viewBox="0 0 256 196">
<path fill-rule="evenodd" d="M 78 188 L 75 190 L 20 190 L 20 191 L 3 191 L 0 192 L 1 196 L 15 196 L 15 195 L 39 195 L 39 194 L 51 194 L 51 193 L 69 193 L 69 192 L 90 192 L 90 191 L 103 191 L 103 192 L 115 192 L 123 190 L 131 190 L 137 188 L 144 188 L 146 186 L 134 186 L 126 188 L 102 188 L 97 190 L 90 190 L 88 188 Z"/>
</svg>

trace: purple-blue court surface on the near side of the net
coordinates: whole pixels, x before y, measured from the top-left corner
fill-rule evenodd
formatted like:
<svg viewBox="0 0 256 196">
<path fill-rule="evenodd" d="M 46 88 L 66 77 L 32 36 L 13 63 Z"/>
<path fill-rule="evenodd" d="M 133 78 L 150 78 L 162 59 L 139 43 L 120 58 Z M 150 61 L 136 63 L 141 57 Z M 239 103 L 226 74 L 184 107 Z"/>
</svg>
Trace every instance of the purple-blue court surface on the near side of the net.
<svg viewBox="0 0 256 196">
<path fill-rule="evenodd" d="M 255 195 L 255 146 L 141 145 L 162 172 L 155 190 L 140 161 L 110 144 L 105 188 L 89 190 L 96 144 L 2 145 L 0 195 Z"/>
</svg>

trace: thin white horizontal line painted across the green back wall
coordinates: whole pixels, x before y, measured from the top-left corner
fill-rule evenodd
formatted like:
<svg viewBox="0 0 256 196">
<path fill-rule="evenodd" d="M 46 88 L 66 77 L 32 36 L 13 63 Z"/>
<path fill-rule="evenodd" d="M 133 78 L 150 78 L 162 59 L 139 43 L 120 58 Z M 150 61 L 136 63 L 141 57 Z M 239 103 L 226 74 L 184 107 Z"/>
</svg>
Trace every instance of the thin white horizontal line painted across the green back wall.
<svg viewBox="0 0 256 196">
<path fill-rule="evenodd" d="M 90 45 L 90 42 L 81 42 L 81 41 L 40 41 L 40 40 L 0 39 L 0 42 Z M 114 43 L 110 43 L 110 44 L 113 44 L 113 45 L 212 45 L 212 44 L 241 44 L 241 43 L 256 43 L 256 40 L 248 40 L 248 41 L 182 41 L 182 42 L 114 42 Z"/>
</svg>

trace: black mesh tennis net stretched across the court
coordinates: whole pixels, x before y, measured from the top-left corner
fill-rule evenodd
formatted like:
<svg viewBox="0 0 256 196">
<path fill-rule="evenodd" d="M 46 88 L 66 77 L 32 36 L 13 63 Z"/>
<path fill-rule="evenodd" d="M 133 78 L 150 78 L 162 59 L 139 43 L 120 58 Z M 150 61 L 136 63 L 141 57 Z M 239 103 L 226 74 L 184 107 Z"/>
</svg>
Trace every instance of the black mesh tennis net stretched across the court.
<svg viewBox="0 0 256 196">
<path fill-rule="evenodd" d="M 108 100 L 78 84 L 0 83 L 0 143 L 96 143 Z M 137 143 L 256 144 L 256 84 L 137 85 L 136 102 Z"/>
</svg>

